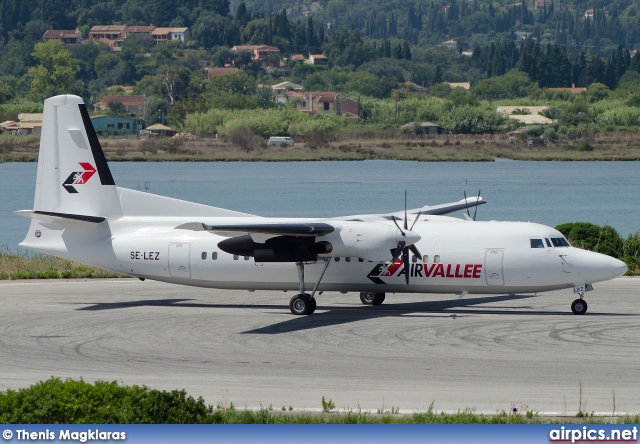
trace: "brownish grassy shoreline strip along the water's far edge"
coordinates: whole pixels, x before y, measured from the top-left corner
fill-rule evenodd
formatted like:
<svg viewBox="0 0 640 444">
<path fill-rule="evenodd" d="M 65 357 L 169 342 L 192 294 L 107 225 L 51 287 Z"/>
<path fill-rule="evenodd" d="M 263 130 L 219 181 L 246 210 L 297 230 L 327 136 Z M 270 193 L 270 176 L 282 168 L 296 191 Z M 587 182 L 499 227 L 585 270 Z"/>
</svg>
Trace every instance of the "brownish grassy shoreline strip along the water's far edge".
<svg viewBox="0 0 640 444">
<path fill-rule="evenodd" d="M 640 161 L 640 138 L 604 134 L 588 141 L 527 145 L 505 135 L 424 136 L 395 139 L 349 139 L 293 147 L 255 146 L 242 149 L 214 139 L 102 139 L 111 162 L 321 162 L 400 160 L 417 162 L 495 161 Z M 35 162 L 39 141 L 0 141 L 0 163 Z"/>
</svg>

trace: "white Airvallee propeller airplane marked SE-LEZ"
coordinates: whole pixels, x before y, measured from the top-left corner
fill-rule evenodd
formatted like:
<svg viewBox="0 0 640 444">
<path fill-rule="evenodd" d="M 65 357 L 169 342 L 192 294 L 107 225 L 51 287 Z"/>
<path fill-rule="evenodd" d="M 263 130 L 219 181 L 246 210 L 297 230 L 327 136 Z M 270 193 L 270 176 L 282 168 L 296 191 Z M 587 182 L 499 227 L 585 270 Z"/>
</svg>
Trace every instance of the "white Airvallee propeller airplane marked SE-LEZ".
<svg viewBox="0 0 640 444">
<path fill-rule="evenodd" d="M 479 222 L 477 197 L 390 214 L 265 218 L 120 188 L 80 97 L 45 100 L 33 210 L 24 248 L 137 276 L 198 287 L 298 290 L 289 307 L 312 314 L 320 291 L 537 293 L 569 289 L 584 314 L 594 282 L 624 262 L 574 248 L 528 222 Z M 467 220 L 442 216 L 467 210 Z M 476 208 L 477 210 L 477 208 Z M 305 288 L 311 287 L 311 293 Z"/>
</svg>

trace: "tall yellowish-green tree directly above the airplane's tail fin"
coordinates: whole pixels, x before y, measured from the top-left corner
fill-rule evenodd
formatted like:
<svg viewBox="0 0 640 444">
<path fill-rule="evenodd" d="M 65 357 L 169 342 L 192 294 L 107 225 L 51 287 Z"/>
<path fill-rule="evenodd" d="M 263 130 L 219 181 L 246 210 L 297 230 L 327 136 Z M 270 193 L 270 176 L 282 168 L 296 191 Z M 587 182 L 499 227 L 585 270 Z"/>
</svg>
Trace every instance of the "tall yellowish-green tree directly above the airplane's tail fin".
<svg viewBox="0 0 640 444">
<path fill-rule="evenodd" d="M 59 40 L 37 43 L 32 55 L 40 64 L 29 68 L 29 98 L 44 100 L 58 94 L 78 93 L 76 73 L 80 70 L 71 53 Z"/>
</svg>

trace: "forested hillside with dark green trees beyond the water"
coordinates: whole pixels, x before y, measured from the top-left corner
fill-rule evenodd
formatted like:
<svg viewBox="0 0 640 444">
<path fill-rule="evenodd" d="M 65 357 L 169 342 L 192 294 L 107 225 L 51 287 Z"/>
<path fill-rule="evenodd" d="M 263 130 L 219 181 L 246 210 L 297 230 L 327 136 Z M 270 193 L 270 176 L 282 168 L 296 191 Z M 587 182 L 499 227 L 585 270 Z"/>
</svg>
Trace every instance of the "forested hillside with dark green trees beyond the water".
<svg viewBox="0 0 640 444">
<path fill-rule="evenodd" d="M 355 122 L 380 128 L 430 120 L 452 132 L 505 131 L 518 124 L 498 115 L 494 101 L 516 99 L 549 104 L 547 117 L 559 122 L 544 130 L 551 140 L 640 123 L 640 53 L 631 53 L 640 45 L 637 2 L 533 2 L 0 0 L 0 120 L 38 111 L 53 94 L 93 104 L 125 85 L 146 97 L 136 116 L 143 125 L 168 120 L 222 134 L 249 126 L 263 136 L 354 124 L 276 103 L 269 85 L 289 80 L 358 100 Z M 92 26 L 110 24 L 188 27 L 192 38 L 156 45 L 130 35 L 116 51 L 86 39 Z M 78 29 L 85 42 L 43 42 L 49 29 Z M 231 50 L 238 44 L 272 45 L 280 55 L 252 60 Z M 323 53 L 328 66 L 298 63 L 297 53 Z M 239 71 L 205 80 L 205 68 L 222 66 Z M 548 90 L 572 84 L 589 87 L 588 96 Z"/>
</svg>

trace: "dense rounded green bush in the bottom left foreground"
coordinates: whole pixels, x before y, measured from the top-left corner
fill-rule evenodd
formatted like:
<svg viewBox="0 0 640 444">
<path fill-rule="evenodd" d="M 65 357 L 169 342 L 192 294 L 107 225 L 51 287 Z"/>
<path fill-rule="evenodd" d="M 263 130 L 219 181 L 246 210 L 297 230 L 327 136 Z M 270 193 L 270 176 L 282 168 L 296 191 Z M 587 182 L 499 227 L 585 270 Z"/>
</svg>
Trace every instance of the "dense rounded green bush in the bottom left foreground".
<svg viewBox="0 0 640 444">
<path fill-rule="evenodd" d="M 202 398 L 114 382 L 51 378 L 0 393 L 4 424 L 197 424 L 212 412 Z"/>
</svg>

